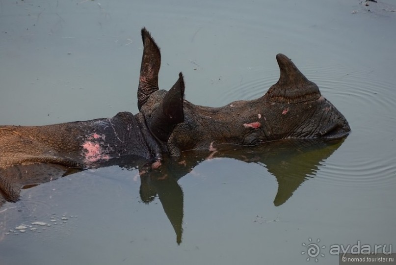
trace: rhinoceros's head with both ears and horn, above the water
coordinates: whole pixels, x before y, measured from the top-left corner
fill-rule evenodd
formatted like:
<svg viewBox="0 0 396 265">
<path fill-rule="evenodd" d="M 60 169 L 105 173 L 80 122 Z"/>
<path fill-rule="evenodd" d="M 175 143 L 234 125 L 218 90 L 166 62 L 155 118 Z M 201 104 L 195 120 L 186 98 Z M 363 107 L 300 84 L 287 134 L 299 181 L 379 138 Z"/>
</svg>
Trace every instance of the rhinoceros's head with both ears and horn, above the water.
<svg viewBox="0 0 396 265">
<path fill-rule="evenodd" d="M 215 150 L 220 144 L 337 139 L 350 132 L 344 116 L 283 54 L 276 55 L 280 78 L 263 97 L 222 107 L 197 106 L 184 100 L 181 73 L 168 92 L 158 89 L 159 48 L 145 28 L 142 38 L 138 106 L 150 131 L 171 155 L 190 149 Z"/>
</svg>

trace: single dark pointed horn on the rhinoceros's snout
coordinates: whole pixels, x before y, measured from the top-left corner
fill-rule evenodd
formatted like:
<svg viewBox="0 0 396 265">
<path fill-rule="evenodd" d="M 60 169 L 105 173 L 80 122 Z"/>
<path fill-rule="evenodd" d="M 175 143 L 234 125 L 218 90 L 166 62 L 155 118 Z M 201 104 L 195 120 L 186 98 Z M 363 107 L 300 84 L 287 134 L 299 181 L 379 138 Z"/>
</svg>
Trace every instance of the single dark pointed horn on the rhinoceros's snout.
<svg viewBox="0 0 396 265">
<path fill-rule="evenodd" d="M 320 97 L 317 85 L 308 80 L 286 55 L 279 53 L 276 60 L 281 74 L 278 82 L 268 89 L 264 99 L 279 103 L 301 103 Z"/>
</svg>

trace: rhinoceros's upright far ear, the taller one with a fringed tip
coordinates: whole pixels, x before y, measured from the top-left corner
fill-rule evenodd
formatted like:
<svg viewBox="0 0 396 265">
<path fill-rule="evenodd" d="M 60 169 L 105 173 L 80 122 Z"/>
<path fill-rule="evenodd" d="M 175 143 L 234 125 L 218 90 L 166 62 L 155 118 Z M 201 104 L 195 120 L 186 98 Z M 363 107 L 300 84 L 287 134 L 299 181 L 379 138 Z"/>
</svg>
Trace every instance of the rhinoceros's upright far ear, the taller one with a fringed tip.
<svg viewBox="0 0 396 265">
<path fill-rule="evenodd" d="M 161 53 L 146 28 L 142 28 L 143 56 L 140 66 L 137 106 L 140 110 L 152 93 L 158 90 L 158 72 L 161 66 Z"/>
</svg>

